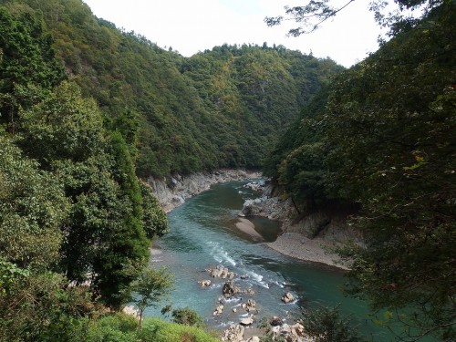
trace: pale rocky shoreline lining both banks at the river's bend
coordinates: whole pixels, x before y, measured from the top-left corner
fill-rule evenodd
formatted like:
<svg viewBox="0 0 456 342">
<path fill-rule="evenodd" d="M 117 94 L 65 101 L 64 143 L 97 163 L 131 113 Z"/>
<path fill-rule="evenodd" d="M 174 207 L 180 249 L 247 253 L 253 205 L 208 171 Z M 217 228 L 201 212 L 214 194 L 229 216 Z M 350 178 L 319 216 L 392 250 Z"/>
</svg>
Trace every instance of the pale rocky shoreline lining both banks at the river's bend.
<svg viewBox="0 0 456 342">
<path fill-rule="evenodd" d="M 274 187 L 264 181 L 259 171 L 225 169 L 213 173 L 199 172 L 189 176 L 175 174 L 170 178 L 148 183 L 165 212 L 180 206 L 185 200 L 208 190 L 212 184 L 227 181 L 253 180 L 246 185 L 254 191 L 263 192 L 262 197 L 244 203 L 236 227 L 244 233 L 258 238 L 249 216 L 264 216 L 281 223 L 282 232 L 273 243 L 264 243 L 280 254 L 302 261 L 326 264 L 348 269 L 331 249 L 348 239 L 359 240 L 359 233 L 345 224 L 344 215 L 331 215 L 328 212 L 314 212 L 298 223 L 293 223 L 295 207 L 290 199 L 283 199 L 274 192 Z"/>
</svg>

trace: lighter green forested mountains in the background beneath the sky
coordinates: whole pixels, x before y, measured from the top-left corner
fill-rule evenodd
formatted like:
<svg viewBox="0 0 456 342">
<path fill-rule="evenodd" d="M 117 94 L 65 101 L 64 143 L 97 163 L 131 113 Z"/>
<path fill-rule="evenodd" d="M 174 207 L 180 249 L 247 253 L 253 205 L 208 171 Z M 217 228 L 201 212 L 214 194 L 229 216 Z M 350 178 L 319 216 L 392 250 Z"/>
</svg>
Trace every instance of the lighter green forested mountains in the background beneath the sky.
<svg viewBox="0 0 456 342">
<path fill-rule="evenodd" d="M 43 17 L 67 76 L 139 148 L 143 177 L 258 168 L 306 99 L 342 69 L 285 47 L 223 46 L 185 58 L 121 32 L 80 0 L 2 3 Z"/>
</svg>

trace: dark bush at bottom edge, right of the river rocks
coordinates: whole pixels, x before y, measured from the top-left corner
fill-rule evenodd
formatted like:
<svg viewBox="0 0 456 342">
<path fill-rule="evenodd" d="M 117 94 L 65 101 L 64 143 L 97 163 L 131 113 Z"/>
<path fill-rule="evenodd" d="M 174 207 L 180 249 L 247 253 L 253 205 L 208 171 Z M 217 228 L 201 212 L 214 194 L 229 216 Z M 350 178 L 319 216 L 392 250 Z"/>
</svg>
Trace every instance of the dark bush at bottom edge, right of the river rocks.
<svg viewBox="0 0 456 342">
<path fill-rule="evenodd" d="M 306 334 L 316 342 L 359 342 L 365 340 L 358 335 L 353 322 L 340 316 L 337 307 L 321 308 L 306 312 L 303 317 Z"/>
</svg>

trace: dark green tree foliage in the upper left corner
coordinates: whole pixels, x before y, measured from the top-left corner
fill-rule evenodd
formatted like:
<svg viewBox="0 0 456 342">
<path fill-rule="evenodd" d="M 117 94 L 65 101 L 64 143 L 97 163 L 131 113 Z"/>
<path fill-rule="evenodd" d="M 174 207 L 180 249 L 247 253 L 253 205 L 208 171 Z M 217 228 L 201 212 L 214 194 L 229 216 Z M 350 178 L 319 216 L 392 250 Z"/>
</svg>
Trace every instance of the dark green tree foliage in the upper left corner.
<svg viewBox="0 0 456 342">
<path fill-rule="evenodd" d="M 63 78 L 53 40 L 33 12 L 12 16 L 0 8 L 0 122 L 16 129 L 17 111 L 43 96 Z"/>
</svg>

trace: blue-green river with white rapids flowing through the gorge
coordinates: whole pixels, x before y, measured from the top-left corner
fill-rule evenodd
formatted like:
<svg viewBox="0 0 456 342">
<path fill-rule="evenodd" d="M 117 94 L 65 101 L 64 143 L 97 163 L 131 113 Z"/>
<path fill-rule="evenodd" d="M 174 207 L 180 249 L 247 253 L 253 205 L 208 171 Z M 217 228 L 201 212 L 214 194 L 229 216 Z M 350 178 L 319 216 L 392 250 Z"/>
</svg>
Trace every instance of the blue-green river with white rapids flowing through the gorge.
<svg viewBox="0 0 456 342">
<path fill-rule="evenodd" d="M 175 275 L 172 307 L 190 306 L 204 318 L 208 326 L 223 328 L 227 324 L 239 322 L 245 316 L 234 313 L 233 308 L 248 298 L 253 298 L 257 303 L 258 319 L 280 316 L 286 318 L 288 323 L 294 323 L 293 317 L 303 310 L 338 306 L 369 340 L 390 340 L 371 323 L 365 302 L 343 295 L 344 271 L 298 261 L 267 247 L 263 243 L 274 241 L 279 230 L 278 223 L 252 219 L 255 230 L 264 235 L 264 241 L 254 240 L 236 228 L 236 218 L 244 201 L 259 195 L 244 188 L 246 182 L 212 185 L 209 191 L 202 192 L 169 213 L 171 233 L 154 243 L 160 254 L 154 254 L 152 261 L 167 266 Z M 222 298 L 225 280 L 211 279 L 205 271 L 218 264 L 228 267 L 237 275 L 234 278 L 236 285 L 242 289 L 253 288 L 256 294 L 237 295 L 225 301 Z M 198 284 L 204 279 L 212 280 L 209 288 L 202 288 Z M 285 292 L 291 292 L 297 299 L 285 305 L 281 301 Z M 220 300 L 224 305 L 223 315 L 212 316 Z M 161 316 L 161 307 L 149 308 L 145 315 Z"/>
</svg>

